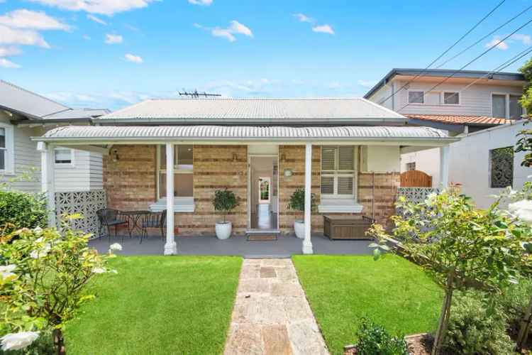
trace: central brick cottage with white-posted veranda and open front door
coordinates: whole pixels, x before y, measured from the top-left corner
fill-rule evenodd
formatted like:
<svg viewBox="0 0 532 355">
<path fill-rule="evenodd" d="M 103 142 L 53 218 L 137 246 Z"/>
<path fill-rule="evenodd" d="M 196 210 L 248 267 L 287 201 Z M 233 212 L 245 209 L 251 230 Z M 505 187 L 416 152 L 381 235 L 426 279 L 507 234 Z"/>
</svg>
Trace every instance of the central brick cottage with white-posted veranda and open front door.
<svg viewBox="0 0 532 355">
<path fill-rule="evenodd" d="M 107 205 L 122 210 L 167 211 L 165 253 L 177 252 L 179 234 L 214 234 L 221 214 L 216 190 L 235 193 L 228 214 L 236 234 L 289 233 L 306 221 L 323 232 L 323 214 L 364 214 L 387 222 L 394 213 L 404 151 L 440 147 L 443 181 L 448 145 L 459 138 L 362 98 L 354 99 L 150 99 L 35 138 L 50 166 L 57 146 L 105 150 Z M 46 175 L 46 170 L 45 174 Z M 55 191 L 50 175 L 49 196 Z M 317 209 L 289 210 L 303 188 Z M 168 198 L 168 197 L 172 198 Z"/>
</svg>

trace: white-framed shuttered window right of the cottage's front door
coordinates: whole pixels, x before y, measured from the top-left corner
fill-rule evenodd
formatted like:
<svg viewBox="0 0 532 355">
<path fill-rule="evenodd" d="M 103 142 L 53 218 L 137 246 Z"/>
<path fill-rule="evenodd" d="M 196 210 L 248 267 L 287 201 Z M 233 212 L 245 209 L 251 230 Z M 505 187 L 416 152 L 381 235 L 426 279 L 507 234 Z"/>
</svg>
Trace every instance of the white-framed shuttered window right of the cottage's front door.
<svg viewBox="0 0 532 355">
<path fill-rule="evenodd" d="M 321 147 L 321 196 L 355 197 L 355 146 Z"/>
</svg>

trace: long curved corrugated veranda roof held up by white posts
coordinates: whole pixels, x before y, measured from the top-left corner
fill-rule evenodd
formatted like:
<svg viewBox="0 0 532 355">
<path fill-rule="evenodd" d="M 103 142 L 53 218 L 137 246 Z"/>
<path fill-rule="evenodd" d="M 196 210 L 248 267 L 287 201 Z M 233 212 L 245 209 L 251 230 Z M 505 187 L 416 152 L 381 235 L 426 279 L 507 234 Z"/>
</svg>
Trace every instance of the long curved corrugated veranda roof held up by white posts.
<svg viewBox="0 0 532 355">
<path fill-rule="evenodd" d="M 444 139 L 447 133 L 429 127 L 341 126 L 63 126 L 45 133 L 37 141 L 128 141 L 160 138 L 209 139 Z"/>
</svg>

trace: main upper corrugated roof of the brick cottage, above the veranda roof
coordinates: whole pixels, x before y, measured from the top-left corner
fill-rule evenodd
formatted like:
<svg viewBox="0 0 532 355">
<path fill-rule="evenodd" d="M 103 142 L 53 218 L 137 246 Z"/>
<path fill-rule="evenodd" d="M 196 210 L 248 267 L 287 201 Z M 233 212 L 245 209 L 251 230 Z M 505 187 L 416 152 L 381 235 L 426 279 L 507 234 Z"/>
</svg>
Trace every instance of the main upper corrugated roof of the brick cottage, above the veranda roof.
<svg viewBox="0 0 532 355">
<path fill-rule="evenodd" d="M 123 120 L 405 119 L 362 98 L 353 99 L 149 99 L 98 119 Z M 405 119 L 406 120 L 406 119 Z"/>
</svg>

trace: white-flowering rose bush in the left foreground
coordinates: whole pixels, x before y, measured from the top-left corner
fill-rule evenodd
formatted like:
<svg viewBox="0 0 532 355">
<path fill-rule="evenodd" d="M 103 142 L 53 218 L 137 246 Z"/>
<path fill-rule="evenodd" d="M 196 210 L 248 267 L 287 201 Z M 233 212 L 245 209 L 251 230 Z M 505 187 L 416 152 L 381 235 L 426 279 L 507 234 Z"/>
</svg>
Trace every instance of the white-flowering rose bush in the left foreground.
<svg viewBox="0 0 532 355">
<path fill-rule="evenodd" d="M 2 349 L 22 349 L 52 329 L 56 354 L 66 354 L 62 328 L 83 302 L 92 300 L 86 286 L 108 272 L 109 254 L 89 249 L 88 234 L 65 228 L 18 229 L 0 238 L 0 298 L 6 305 L 0 325 Z M 116 271 L 111 271 L 116 273 Z"/>
</svg>

